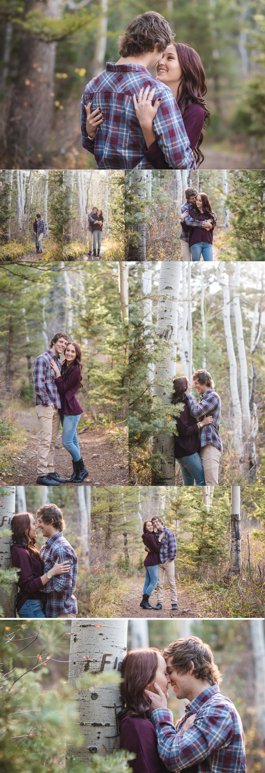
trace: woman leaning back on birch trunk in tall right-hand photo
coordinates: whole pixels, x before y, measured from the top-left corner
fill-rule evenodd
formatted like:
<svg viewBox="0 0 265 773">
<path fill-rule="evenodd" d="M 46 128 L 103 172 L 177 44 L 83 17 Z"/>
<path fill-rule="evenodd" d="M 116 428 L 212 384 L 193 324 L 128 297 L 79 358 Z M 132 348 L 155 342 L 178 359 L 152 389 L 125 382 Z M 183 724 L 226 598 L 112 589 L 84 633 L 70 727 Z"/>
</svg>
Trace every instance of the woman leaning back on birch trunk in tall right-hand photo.
<svg viewBox="0 0 265 773">
<path fill-rule="evenodd" d="M 175 458 L 181 468 L 183 485 L 206 485 L 202 459 L 199 456 L 199 430 L 206 424 L 212 424 L 212 416 L 204 416 L 203 420 L 198 422 L 192 416 L 185 394 L 192 391 L 189 379 L 185 376 L 178 377 L 174 379 L 173 386 L 173 405 L 183 405 L 180 415 L 175 417 L 178 430 L 178 435 L 175 435 Z"/>
</svg>

